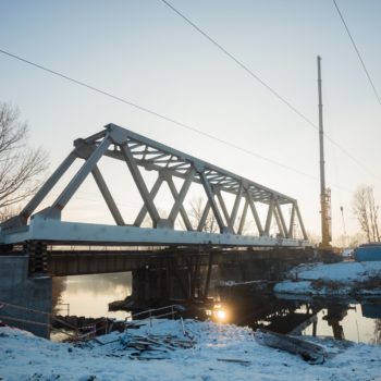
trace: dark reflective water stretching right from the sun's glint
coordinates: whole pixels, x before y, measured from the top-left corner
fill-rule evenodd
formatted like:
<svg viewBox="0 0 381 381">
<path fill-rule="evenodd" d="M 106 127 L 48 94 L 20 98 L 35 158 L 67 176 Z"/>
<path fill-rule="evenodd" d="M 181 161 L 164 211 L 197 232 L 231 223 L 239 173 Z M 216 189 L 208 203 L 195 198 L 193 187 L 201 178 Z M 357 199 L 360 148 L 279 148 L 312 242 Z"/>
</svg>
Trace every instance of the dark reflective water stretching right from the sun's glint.
<svg viewBox="0 0 381 381">
<path fill-rule="evenodd" d="M 381 299 L 300 300 L 253 294 L 253 299 L 238 297 L 225 302 L 234 310 L 231 322 L 239 325 L 265 328 L 279 333 L 381 343 Z"/>
</svg>

